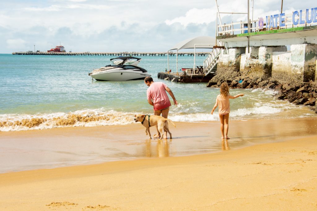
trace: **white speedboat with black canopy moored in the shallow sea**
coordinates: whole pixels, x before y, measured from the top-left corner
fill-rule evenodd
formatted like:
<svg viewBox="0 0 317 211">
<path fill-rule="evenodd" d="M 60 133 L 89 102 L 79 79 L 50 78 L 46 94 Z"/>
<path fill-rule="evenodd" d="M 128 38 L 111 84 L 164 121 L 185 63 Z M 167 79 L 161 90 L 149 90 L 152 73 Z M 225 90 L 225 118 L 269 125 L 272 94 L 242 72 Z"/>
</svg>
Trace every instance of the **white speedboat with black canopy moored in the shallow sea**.
<svg viewBox="0 0 317 211">
<path fill-rule="evenodd" d="M 139 64 L 140 60 L 141 59 L 139 58 L 131 56 L 110 59 L 113 65 L 95 69 L 88 75 L 97 81 L 127 81 L 144 79 L 148 76 L 151 77 L 151 75 L 147 74 L 145 69 L 136 66 L 136 64 Z"/>
</svg>

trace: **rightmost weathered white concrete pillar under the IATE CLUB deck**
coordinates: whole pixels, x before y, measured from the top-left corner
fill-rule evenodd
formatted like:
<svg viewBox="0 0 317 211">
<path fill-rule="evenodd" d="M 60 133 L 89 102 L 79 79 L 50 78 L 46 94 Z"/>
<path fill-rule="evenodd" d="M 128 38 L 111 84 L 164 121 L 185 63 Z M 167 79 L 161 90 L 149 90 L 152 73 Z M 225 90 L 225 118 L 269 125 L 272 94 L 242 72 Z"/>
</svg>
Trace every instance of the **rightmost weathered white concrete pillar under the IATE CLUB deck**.
<svg viewBox="0 0 317 211">
<path fill-rule="evenodd" d="M 291 45 L 291 74 L 299 81 L 315 79 L 316 44 Z"/>
</svg>

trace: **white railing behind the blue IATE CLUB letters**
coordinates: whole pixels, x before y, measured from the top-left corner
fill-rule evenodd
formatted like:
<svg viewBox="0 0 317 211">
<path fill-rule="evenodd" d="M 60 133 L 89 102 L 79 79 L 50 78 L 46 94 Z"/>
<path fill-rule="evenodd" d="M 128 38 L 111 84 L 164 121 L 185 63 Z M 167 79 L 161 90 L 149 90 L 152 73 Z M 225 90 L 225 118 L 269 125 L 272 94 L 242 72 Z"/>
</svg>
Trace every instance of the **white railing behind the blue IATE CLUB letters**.
<svg viewBox="0 0 317 211">
<path fill-rule="evenodd" d="M 297 11 L 296 11 L 297 12 Z M 280 18 L 277 18 L 276 21 L 273 18 L 274 27 L 269 26 L 270 18 L 272 16 L 268 16 L 267 20 L 266 17 L 264 17 L 263 21 L 263 28 L 259 28 L 259 19 L 256 20 L 250 20 L 250 32 L 259 32 L 259 31 L 268 31 L 268 30 L 274 30 L 274 29 L 285 29 L 285 28 L 294 28 L 294 27 L 305 27 L 305 26 L 314 26 L 317 25 L 317 22 L 314 22 L 314 13 L 312 13 L 310 10 L 306 14 L 306 10 L 300 11 L 299 15 L 296 14 L 295 21 L 298 23 L 294 25 L 293 23 L 293 13 L 289 13 L 283 16 L 283 20 L 280 22 Z M 279 14 L 281 15 L 281 14 Z M 307 15 L 307 16 L 306 16 Z M 307 22 L 307 19 L 310 20 Z M 231 23 L 224 23 L 223 25 L 217 25 L 217 36 L 224 36 L 224 35 L 234 35 L 234 34 L 245 34 L 248 33 L 248 22 L 231 22 Z"/>
</svg>

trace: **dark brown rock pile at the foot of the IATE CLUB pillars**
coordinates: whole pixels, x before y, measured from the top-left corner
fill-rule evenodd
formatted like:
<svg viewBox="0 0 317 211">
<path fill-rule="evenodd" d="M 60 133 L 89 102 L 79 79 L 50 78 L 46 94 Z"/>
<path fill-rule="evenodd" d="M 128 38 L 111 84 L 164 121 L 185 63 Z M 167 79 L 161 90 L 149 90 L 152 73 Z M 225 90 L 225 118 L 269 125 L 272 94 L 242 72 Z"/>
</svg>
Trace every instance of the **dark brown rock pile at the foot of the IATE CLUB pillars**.
<svg viewBox="0 0 317 211">
<path fill-rule="evenodd" d="M 225 77 L 217 75 L 210 80 L 207 87 L 219 87 L 223 82 L 227 82 L 231 89 L 274 89 L 278 91 L 278 99 L 310 106 L 317 113 L 317 82 L 280 83 L 274 78 L 239 75 L 237 72 L 231 73 L 230 76 L 227 73 Z"/>
</svg>

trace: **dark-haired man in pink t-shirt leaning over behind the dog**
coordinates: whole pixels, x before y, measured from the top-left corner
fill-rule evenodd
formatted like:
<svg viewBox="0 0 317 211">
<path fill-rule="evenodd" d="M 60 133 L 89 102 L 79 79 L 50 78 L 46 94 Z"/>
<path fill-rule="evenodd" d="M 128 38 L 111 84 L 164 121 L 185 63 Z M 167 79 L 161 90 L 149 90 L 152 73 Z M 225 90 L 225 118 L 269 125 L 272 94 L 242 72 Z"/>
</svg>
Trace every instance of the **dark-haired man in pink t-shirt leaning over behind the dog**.
<svg viewBox="0 0 317 211">
<path fill-rule="evenodd" d="M 177 100 L 174 97 L 173 92 L 162 82 L 154 82 L 153 78 L 146 77 L 144 79 L 144 83 L 149 87 L 146 91 L 147 102 L 153 106 L 154 115 L 162 116 L 164 118 L 168 117 L 168 111 L 171 106 L 170 99 L 168 98 L 166 92 L 170 94 L 173 98 L 174 105 L 177 105 Z M 158 128 L 156 127 L 158 135 L 160 137 L 160 133 Z M 164 131 L 165 138 L 167 138 L 167 132 Z"/>
</svg>

